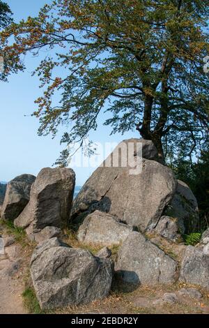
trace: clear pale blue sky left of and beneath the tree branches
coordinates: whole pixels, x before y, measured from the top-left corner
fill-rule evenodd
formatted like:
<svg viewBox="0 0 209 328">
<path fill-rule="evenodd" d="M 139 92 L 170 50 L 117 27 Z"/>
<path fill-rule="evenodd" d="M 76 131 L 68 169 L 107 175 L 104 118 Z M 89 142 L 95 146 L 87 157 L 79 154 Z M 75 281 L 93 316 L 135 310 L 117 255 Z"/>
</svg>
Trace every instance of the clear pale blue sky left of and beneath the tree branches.
<svg viewBox="0 0 209 328">
<path fill-rule="evenodd" d="M 35 16 L 46 0 L 4 0 L 14 13 L 16 22 L 29 15 Z M 55 139 L 38 137 L 38 119 L 30 114 L 36 109 L 34 100 L 40 96 L 37 77 L 31 77 L 38 59 L 30 54 L 26 57 L 26 71 L 12 75 L 8 83 L 0 82 L 0 181 L 9 181 L 19 174 L 37 175 L 42 167 L 52 167 L 63 147 L 60 146 L 61 133 Z M 26 116 L 25 116 L 26 115 Z M 102 120 L 102 117 L 100 117 Z M 100 124 L 98 131 L 90 134 L 94 142 L 120 142 L 138 136 L 137 133 L 113 135 L 110 128 Z M 88 179 L 94 168 L 74 168 L 77 185 Z"/>
</svg>

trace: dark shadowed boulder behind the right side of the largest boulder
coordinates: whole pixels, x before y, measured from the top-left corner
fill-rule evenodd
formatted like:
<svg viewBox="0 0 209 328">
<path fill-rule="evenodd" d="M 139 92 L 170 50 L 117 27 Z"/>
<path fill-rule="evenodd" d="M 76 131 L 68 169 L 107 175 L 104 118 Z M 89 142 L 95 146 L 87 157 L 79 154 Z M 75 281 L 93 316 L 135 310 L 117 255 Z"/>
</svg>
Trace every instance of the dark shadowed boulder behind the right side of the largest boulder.
<svg viewBox="0 0 209 328">
<path fill-rule="evenodd" d="M 179 230 L 183 234 L 196 228 L 199 222 L 198 204 L 191 189 L 183 181 L 178 180 L 176 193 L 164 215 L 178 218 Z"/>
</svg>

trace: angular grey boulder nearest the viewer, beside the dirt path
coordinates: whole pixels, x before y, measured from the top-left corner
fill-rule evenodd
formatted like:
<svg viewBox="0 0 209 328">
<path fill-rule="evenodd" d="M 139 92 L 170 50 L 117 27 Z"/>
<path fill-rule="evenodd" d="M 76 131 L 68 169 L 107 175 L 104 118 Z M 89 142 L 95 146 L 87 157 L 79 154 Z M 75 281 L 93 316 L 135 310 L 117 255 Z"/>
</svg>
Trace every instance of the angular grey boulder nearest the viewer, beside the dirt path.
<svg viewBox="0 0 209 328">
<path fill-rule="evenodd" d="M 84 249 L 49 239 L 31 258 L 31 277 L 41 308 L 87 304 L 109 295 L 114 265 Z"/>
</svg>

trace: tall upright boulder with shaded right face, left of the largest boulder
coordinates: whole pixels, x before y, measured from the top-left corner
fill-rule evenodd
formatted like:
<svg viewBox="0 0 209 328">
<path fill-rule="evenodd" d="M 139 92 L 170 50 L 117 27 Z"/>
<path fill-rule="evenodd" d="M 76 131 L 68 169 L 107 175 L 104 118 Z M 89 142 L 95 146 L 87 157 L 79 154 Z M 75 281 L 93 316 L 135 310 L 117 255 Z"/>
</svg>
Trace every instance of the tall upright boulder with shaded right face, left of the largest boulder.
<svg viewBox="0 0 209 328">
<path fill-rule="evenodd" d="M 75 188 L 75 172 L 68 168 L 44 168 L 31 188 L 29 204 L 15 220 L 15 226 L 31 230 L 48 225 L 61 228 L 68 223 Z"/>
</svg>

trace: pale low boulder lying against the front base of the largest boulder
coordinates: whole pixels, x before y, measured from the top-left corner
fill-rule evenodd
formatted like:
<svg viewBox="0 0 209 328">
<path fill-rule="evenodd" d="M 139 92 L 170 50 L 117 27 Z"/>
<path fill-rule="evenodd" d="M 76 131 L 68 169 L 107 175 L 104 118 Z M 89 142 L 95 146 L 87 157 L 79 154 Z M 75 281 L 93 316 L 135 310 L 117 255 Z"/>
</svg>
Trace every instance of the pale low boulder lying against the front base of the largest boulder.
<svg viewBox="0 0 209 328">
<path fill-rule="evenodd" d="M 120 244 L 135 228 L 116 221 L 107 213 L 95 211 L 86 216 L 79 227 L 77 239 L 84 244 L 111 246 Z"/>
</svg>

